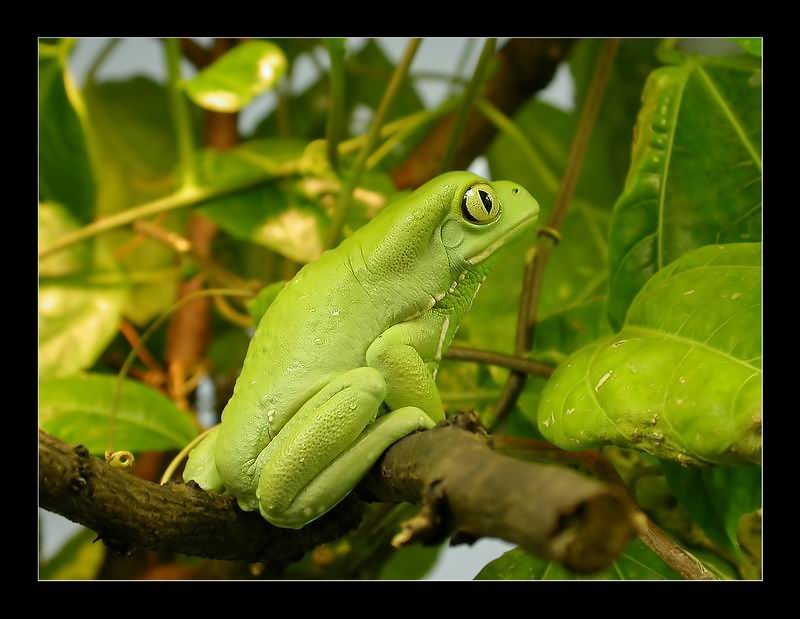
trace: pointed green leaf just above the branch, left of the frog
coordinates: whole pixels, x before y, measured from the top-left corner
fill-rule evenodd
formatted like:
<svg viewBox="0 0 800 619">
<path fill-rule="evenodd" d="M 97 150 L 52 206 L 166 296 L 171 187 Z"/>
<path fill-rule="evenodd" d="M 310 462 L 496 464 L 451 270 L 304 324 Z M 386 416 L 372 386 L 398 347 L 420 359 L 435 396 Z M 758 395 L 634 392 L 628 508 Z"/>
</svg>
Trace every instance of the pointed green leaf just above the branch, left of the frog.
<svg viewBox="0 0 800 619">
<path fill-rule="evenodd" d="M 116 376 L 84 374 L 39 384 L 39 427 L 93 454 L 108 449 Z M 114 422 L 113 447 L 133 452 L 180 449 L 197 435 L 188 413 L 142 383 L 125 380 Z"/>
</svg>

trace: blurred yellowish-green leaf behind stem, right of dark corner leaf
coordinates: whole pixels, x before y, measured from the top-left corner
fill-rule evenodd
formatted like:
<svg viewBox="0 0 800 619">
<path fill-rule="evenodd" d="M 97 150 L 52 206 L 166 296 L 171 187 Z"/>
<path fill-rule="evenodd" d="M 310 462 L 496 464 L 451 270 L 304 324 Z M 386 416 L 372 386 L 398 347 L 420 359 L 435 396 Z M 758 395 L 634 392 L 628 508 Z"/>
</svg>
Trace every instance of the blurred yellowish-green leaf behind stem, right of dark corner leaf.
<svg viewBox="0 0 800 619">
<path fill-rule="evenodd" d="M 178 154 L 164 87 L 141 76 L 90 82 L 85 98 L 98 154 L 97 212 L 112 215 L 173 192 Z M 184 234 L 186 217 L 178 211 L 162 216 L 158 223 Z M 135 236 L 128 229 L 111 230 L 97 243 L 109 254 L 133 247 L 115 262 L 137 282 L 124 312 L 133 322 L 144 324 L 174 302 L 179 274 L 174 252 L 141 237 L 131 245 Z"/>
</svg>

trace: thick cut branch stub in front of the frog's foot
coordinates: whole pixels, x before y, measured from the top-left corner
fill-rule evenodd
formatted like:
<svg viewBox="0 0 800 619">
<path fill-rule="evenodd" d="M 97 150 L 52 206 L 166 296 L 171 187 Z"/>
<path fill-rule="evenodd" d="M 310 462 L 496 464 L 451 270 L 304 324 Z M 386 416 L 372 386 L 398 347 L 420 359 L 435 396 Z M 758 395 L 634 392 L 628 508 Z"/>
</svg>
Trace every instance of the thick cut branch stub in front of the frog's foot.
<svg viewBox="0 0 800 619">
<path fill-rule="evenodd" d="M 624 489 L 497 454 L 487 436 L 462 429 L 461 417 L 396 443 L 369 490 L 419 502 L 435 487 L 443 498 L 426 506 L 446 510 L 440 521 L 452 531 L 505 539 L 578 572 L 608 566 L 640 532 L 643 515 Z"/>
</svg>

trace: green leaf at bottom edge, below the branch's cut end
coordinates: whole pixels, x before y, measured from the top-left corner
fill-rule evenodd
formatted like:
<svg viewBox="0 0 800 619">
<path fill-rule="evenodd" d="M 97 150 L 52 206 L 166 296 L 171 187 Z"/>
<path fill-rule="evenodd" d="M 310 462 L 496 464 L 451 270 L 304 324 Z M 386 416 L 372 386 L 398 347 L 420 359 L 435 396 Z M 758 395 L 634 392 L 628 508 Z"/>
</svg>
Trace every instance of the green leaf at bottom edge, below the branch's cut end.
<svg viewBox="0 0 800 619">
<path fill-rule="evenodd" d="M 636 539 L 611 567 L 596 574 L 575 574 L 517 547 L 488 563 L 475 580 L 681 580 L 681 577 Z"/>
</svg>

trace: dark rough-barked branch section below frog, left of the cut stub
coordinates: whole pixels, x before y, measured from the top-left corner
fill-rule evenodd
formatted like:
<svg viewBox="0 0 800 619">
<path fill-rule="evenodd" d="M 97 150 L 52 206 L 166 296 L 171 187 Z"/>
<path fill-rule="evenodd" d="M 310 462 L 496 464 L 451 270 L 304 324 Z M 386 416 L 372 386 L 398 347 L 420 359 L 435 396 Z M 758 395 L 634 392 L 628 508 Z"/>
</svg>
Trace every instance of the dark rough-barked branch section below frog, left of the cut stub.
<svg viewBox="0 0 800 619">
<path fill-rule="evenodd" d="M 120 550 L 146 548 L 281 565 L 358 526 L 361 509 L 345 501 L 299 530 L 268 525 L 230 497 L 183 484 L 160 486 L 115 469 L 85 449 L 39 431 L 40 506 L 96 531 Z"/>
</svg>

